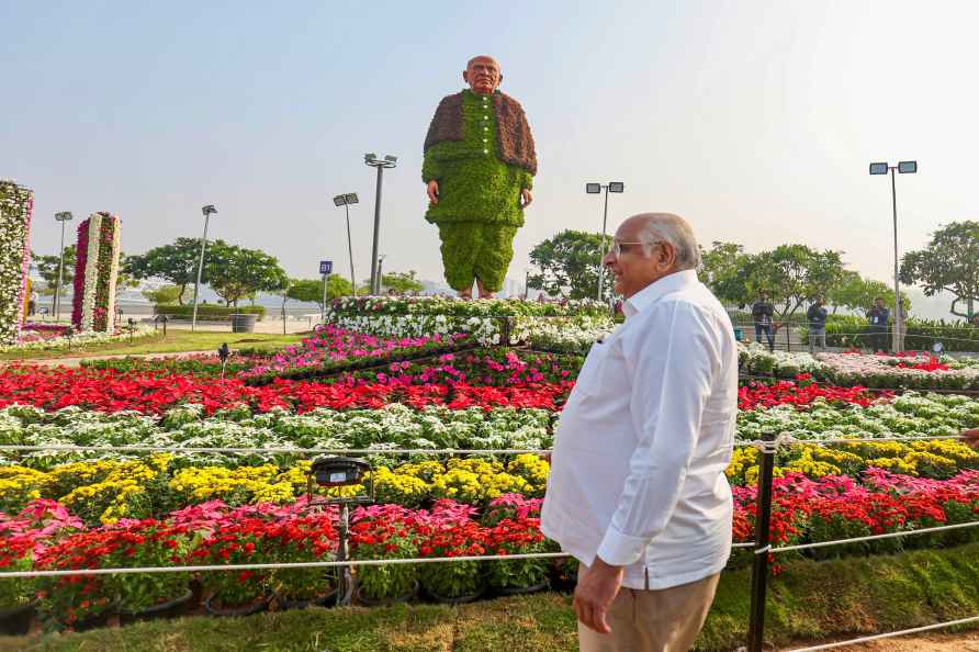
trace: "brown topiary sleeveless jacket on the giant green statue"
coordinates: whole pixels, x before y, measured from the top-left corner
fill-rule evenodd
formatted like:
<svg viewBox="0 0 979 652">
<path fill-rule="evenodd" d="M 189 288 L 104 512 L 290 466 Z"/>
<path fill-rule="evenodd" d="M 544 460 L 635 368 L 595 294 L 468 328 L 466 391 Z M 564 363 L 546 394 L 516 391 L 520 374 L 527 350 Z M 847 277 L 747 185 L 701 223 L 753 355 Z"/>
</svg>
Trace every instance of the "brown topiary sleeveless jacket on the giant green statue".
<svg viewBox="0 0 979 652">
<path fill-rule="evenodd" d="M 533 135 L 520 103 L 503 92 L 493 93 L 499 159 L 537 175 Z M 462 93 L 442 98 L 425 136 L 425 151 L 443 140 L 462 140 Z"/>
</svg>

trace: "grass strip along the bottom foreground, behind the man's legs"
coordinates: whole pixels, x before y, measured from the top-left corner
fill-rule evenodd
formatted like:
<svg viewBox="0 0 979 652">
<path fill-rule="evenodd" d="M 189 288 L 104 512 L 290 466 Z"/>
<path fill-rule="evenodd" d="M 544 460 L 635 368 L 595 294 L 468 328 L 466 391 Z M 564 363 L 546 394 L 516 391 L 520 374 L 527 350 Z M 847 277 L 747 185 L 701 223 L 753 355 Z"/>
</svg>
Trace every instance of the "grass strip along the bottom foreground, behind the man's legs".
<svg viewBox="0 0 979 652">
<path fill-rule="evenodd" d="M 730 651 L 747 632 L 749 569 L 724 573 L 697 650 Z M 792 561 L 769 584 L 766 640 L 855 638 L 979 614 L 979 543 L 949 550 Z M 192 617 L 82 633 L 0 638 L 0 651 L 564 652 L 576 650 L 571 596 L 538 594 L 460 607 L 308 609 Z"/>
</svg>

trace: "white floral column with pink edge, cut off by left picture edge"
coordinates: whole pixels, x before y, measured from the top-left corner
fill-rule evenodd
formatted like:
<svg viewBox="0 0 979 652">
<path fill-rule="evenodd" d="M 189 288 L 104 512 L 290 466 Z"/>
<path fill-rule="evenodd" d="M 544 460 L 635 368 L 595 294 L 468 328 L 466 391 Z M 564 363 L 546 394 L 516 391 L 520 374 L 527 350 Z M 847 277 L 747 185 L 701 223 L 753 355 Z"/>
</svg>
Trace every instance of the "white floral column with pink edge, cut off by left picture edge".
<svg viewBox="0 0 979 652">
<path fill-rule="evenodd" d="M 34 192 L 0 179 L 0 345 L 16 344 L 24 321 Z"/>
</svg>

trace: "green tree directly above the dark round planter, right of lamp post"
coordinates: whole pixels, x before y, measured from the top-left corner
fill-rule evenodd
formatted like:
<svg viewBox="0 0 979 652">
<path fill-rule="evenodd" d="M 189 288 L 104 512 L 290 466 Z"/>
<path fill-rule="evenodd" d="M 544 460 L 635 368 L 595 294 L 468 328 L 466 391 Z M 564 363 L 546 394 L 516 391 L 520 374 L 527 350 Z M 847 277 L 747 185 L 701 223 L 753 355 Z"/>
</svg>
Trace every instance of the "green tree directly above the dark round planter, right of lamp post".
<svg viewBox="0 0 979 652">
<path fill-rule="evenodd" d="M 279 261 L 258 249 L 246 249 L 216 240 L 204 263 L 207 284 L 228 305 L 255 292 L 283 292 L 289 277 Z"/>
</svg>

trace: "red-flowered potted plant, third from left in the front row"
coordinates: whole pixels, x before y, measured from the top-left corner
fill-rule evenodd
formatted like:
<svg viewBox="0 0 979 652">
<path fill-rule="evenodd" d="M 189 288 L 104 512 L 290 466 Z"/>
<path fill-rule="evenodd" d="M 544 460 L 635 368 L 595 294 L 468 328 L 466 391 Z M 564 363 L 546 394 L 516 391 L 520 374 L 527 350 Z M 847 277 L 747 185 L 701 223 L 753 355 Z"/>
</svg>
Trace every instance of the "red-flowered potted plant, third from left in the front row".
<svg viewBox="0 0 979 652">
<path fill-rule="evenodd" d="M 191 539 L 183 527 L 140 522 L 119 533 L 120 546 L 106 565 L 167 566 L 182 564 Z M 190 603 L 189 573 L 137 573 L 110 575 L 105 583 L 120 606 L 120 620 L 133 622 L 180 615 Z"/>
</svg>

